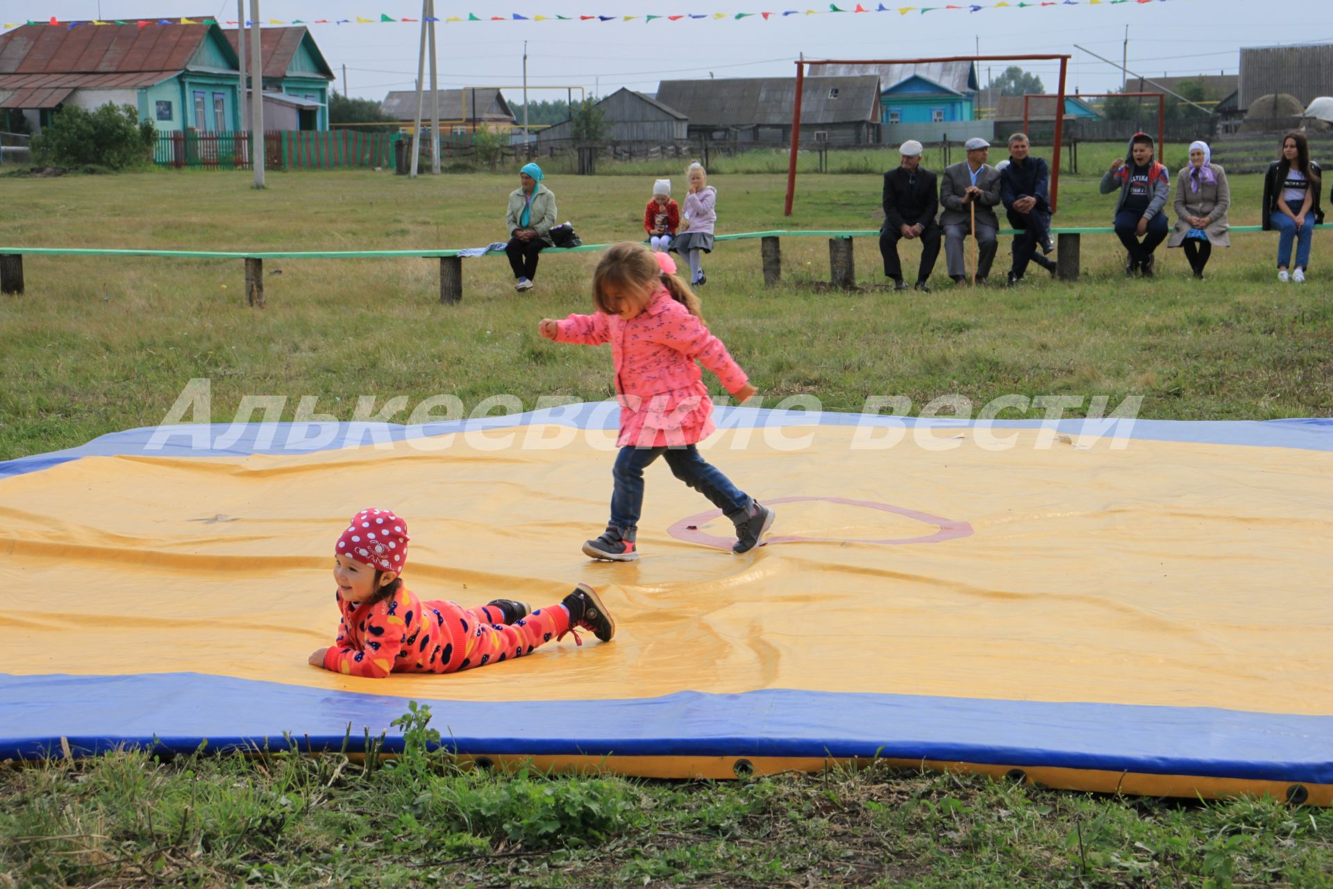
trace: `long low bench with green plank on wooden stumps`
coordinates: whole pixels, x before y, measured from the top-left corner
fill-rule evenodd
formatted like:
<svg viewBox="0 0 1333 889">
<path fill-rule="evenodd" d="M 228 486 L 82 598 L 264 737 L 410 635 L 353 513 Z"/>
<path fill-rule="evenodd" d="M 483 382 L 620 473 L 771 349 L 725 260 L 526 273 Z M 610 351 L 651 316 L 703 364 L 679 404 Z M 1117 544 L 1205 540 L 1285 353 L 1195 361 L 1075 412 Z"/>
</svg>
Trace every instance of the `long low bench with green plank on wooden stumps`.
<svg viewBox="0 0 1333 889">
<path fill-rule="evenodd" d="M 1318 228 L 1329 228 L 1328 224 Z M 1260 232 L 1260 225 L 1233 225 L 1232 232 Z M 1084 235 L 1114 235 L 1110 227 L 1052 228 L 1057 239 L 1056 276 L 1064 281 L 1078 280 L 1080 248 Z M 1000 235 L 1017 235 L 1012 228 L 1001 228 Z M 838 289 L 856 287 L 856 263 L 852 241 L 857 237 L 878 237 L 880 229 L 853 231 L 800 231 L 784 229 L 770 232 L 741 232 L 718 235 L 716 241 L 760 241 L 760 257 L 764 268 L 764 287 L 774 287 L 782 280 L 784 237 L 826 237 L 829 241 L 829 284 Z M 584 244 L 581 247 L 548 247 L 547 253 L 591 253 L 604 251 L 609 244 Z M 24 256 L 169 256 L 176 259 L 236 259 L 245 263 L 245 304 L 264 308 L 264 260 L 293 259 L 439 259 L 440 260 L 440 301 L 444 304 L 463 300 L 463 257 L 456 249 L 444 251 L 275 251 L 275 252 L 219 252 L 219 251 L 135 251 L 135 249 L 95 249 L 56 247 L 0 247 L 0 293 L 23 293 Z M 487 256 L 499 256 L 488 253 Z"/>
</svg>

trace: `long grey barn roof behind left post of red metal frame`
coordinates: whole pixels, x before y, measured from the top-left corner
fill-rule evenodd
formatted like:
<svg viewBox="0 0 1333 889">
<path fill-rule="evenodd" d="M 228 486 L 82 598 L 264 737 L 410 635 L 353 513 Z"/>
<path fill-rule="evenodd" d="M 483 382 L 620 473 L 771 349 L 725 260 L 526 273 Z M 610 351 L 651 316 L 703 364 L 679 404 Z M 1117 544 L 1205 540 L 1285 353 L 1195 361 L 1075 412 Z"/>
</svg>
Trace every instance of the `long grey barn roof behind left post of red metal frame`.
<svg viewBox="0 0 1333 889">
<path fill-rule="evenodd" d="M 792 123 L 796 77 L 664 80 L 657 101 L 685 115 L 692 127 L 777 127 Z M 801 125 L 848 124 L 880 119 L 880 79 L 806 77 Z"/>
</svg>

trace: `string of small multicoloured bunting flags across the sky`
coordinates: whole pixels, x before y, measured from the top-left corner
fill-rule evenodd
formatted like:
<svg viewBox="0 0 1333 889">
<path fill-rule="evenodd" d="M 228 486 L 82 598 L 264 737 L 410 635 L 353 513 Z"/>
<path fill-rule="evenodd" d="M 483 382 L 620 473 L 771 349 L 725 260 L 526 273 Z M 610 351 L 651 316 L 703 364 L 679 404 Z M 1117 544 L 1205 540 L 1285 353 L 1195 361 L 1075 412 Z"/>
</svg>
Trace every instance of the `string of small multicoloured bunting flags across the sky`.
<svg viewBox="0 0 1333 889">
<path fill-rule="evenodd" d="M 850 4 L 844 3 L 841 7 L 837 3 L 828 4 L 826 9 L 782 9 L 782 11 L 768 11 L 768 12 L 713 12 L 713 13 L 680 13 L 680 15 L 587 15 L 587 16 L 544 16 L 544 15 L 521 15 L 513 12 L 508 16 L 479 16 L 475 12 L 467 15 L 451 15 L 443 17 L 427 16 L 425 21 L 440 21 L 440 23 L 463 23 L 463 21 L 643 21 L 644 24 L 651 24 L 653 21 L 742 21 L 745 19 L 753 19 L 756 21 L 781 21 L 790 16 L 829 16 L 829 15 L 874 15 L 884 12 L 896 12 L 900 16 L 909 13 L 925 15 L 928 12 L 981 12 L 982 9 L 1036 9 L 1046 7 L 1118 7 L 1121 4 L 1134 4 L 1134 5 L 1149 5 L 1158 3 L 1180 3 L 1182 0 L 1017 0 L 1017 3 L 1009 3 L 1008 0 L 998 0 L 997 3 L 965 3 L 965 4 L 945 4 L 937 7 L 886 7 L 882 3 L 876 7 L 868 7 L 864 3 Z M 291 21 L 284 21 L 279 19 L 269 19 L 268 21 L 261 21 L 260 25 L 372 25 L 372 24 L 400 24 L 400 23 L 420 23 L 421 19 L 409 17 L 395 17 L 385 12 L 379 13 L 379 16 L 352 16 L 351 19 L 292 19 Z M 53 28 L 77 28 L 77 27 L 99 27 L 99 25 L 137 25 L 139 28 L 148 27 L 163 27 L 163 25 L 236 25 L 237 21 L 225 19 L 108 19 L 105 21 L 97 19 L 88 19 L 80 21 L 59 21 L 55 16 L 49 21 L 33 21 L 27 19 L 24 21 L 8 21 L 3 23 L 0 28 L 8 31 L 9 28 L 19 28 L 21 25 L 49 25 Z M 255 24 L 247 21 L 247 25 Z"/>
</svg>

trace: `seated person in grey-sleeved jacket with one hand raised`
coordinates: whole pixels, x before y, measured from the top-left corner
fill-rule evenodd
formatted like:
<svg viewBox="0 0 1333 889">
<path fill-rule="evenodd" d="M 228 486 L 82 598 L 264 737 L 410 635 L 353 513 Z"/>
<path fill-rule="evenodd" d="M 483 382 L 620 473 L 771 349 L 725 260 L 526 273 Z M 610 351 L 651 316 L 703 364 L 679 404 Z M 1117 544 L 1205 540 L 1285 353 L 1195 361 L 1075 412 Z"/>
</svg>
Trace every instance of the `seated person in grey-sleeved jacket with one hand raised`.
<svg viewBox="0 0 1333 889">
<path fill-rule="evenodd" d="M 1114 225 L 1120 243 L 1129 251 L 1125 275 L 1137 271 L 1152 277 L 1153 251 L 1166 240 L 1169 229 L 1162 209 L 1170 197 L 1170 173 L 1153 159 L 1153 139 L 1146 133 L 1134 133 L 1129 140 L 1129 163 L 1124 157 L 1112 161 L 1101 177 L 1101 193 L 1109 195 L 1120 187 Z"/>
</svg>

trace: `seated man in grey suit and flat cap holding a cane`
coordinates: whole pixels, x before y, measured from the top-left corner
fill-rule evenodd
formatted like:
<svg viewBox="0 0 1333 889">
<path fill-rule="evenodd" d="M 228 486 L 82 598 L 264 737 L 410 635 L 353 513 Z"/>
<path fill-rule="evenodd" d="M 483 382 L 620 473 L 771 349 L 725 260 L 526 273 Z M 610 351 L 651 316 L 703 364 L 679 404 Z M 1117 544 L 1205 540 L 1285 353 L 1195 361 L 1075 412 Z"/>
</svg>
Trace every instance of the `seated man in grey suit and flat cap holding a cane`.
<svg viewBox="0 0 1333 889">
<path fill-rule="evenodd" d="M 962 239 L 968 236 L 976 208 L 977 231 L 977 284 L 990 275 L 990 263 L 998 245 L 1000 220 L 992 209 L 1000 203 L 1000 173 L 986 165 L 990 143 L 985 139 L 969 139 L 968 160 L 945 167 L 940 177 L 940 228 L 944 229 L 944 257 L 949 267 L 949 277 L 954 284 L 968 280 L 968 265 L 962 256 Z"/>
</svg>

